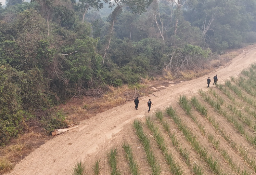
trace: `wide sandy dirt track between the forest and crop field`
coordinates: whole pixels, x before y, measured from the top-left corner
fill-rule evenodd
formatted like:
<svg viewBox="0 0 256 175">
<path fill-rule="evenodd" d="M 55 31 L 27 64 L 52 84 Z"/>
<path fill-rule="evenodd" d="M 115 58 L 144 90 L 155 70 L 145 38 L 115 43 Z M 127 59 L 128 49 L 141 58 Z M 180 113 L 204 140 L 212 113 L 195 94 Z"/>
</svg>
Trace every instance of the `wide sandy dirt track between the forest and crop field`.
<svg viewBox="0 0 256 175">
<path fill-rule="evenodd" d="M 121 144 L 127 138 L 131 123 L 136 118 L 148 114 L 146 102 L 151 98 L 153 106 L 151 112 L 157 108 L 164 109 L 177 102 L 182 94 L 188 97 L 197 93 L 199 88 L 207 89 L 206 79 L 210 77 L 213 86 L 213 77 L 218 75 L 218 80 L 223 83 L 230 76 L 237 76 L 243 68 L 247 68 L 256 61 L 256 48 L 247 50 L 234 58 L 229 66 L 218 68 L 209 75 L 179 84 L 169 86 L 164 90 L 154 93 L 157 97 L 145 96 L 139 98 L 138 110 L 134 110 L 133 102 L 107 110 L 97 116 L 83 121 L 77 129 L 71 130 L 47 141 L 35 151 L 21 160 L 8 175 L 66 175 L 71 174 L 74 162 L 94 160 L 99 152 Z M 133 138 L 129 138 L 133 139 Z M 115 140 L 115 142 L 112 142 Z M 103 151 L 102 151 L 103 150 Z M 142 162 L 143 163 L 143 162 Z M 145 162 L 144 162 L 145 163 Z M 145 164 L 145 166 L 148 166 Z M 90 173 L 89 173 L 90 174 Z M 109 173 L 103 173 L 109 174 Z"/>
</svg>

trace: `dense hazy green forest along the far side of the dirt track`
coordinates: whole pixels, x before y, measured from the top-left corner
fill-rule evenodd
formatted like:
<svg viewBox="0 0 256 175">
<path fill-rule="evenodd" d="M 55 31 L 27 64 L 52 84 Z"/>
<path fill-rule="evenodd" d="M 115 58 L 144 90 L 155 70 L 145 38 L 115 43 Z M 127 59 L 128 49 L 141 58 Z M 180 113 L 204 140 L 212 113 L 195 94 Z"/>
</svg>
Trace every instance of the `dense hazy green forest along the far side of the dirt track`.
<svg viewBox="0 0 256 175">
<path fill-rule="evenodd" d="M 0 144 L 53 106 L 141 77 L 206 69 L 256 42 L 255 0 L 7 0 L 0 4 Z"/>
</svg>

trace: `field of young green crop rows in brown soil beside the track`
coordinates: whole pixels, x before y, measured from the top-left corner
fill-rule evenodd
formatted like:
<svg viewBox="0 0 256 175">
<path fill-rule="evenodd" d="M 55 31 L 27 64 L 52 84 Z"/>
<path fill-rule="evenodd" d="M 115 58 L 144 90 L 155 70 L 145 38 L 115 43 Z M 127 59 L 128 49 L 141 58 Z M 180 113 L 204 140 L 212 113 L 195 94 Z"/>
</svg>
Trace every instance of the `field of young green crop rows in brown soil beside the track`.
<svg viewBox="0 0 256 175">
<path fill-rule="evenodd" d="M 207 91 L 199 89 L 196 96 L 182 95 L 177 104 L 134 120 L 131 134 L 143 147 L 144 157 L 137 156 L 133 143 L 124 141 L 106 152 L 108 170 L 98 159 L 90 174 L 146 174 L 140 159 L 147 161 L 153 175 L 256 174 L 256 64 L 241 74 Z M 123 155 L 129 172 L 118 163 Z M 85 169 L 79 162 L 73 174 Z"/>
</svg>

